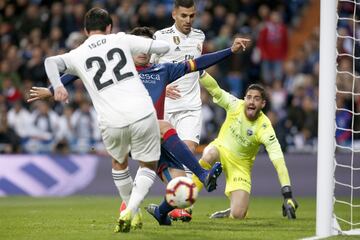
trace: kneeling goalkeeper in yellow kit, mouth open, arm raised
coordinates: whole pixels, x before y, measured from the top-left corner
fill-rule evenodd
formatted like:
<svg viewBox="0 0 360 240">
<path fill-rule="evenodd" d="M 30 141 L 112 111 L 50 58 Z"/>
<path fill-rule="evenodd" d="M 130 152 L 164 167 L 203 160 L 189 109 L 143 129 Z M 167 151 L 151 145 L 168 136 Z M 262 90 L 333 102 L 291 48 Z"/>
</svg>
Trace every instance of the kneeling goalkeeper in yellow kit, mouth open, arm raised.
<svg viewBox="0 0 360 240">
<path fill-rule="evenodd" d="M 210 218 L 243 219 L 248 211 L 251 191 L 251 170 L 255 157 L 263 144 L 277 171 L 284 197 L 283 215 L 295 219 L 298 207 L 292 196 L 284 155 L 268 117 L 262 112 L 266 104 L 265 90 L 259 84 L 250 85 L 244 100 L 238 99 L 219 87 L 209 74 L 200 83 L 213 97 L 214 103 L 226 110 L 226 119 L 218 137 L 204 150 L 200 165 L 210 169 L 220 161 L 226 177 L 225 194 L 230 208 L 215 212 Z M 202 183 L 193 177 L 198 189 Z"/>
</svg>

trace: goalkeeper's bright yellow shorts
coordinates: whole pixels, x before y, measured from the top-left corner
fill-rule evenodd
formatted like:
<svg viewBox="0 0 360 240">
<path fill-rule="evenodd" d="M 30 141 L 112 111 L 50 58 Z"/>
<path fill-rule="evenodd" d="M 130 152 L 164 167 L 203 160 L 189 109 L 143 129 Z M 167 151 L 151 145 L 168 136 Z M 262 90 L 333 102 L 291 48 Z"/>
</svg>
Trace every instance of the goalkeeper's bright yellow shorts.
<svg viewBox="0 0 360 240">
<path fill-rule="evenodd" d="M 221 146 L 221 144 L 212 142 L 209 145 L 216 147 L 219 151 L 220 162 L 226 179 L 225 195 L 229 197 L 230 193 L 236 190 L 244 190 L 250 194 L 251 173 L 249 169 L 243 166 L 248 165 L 248 162 L 244 164 L 244 161 Z"/>
</svg>

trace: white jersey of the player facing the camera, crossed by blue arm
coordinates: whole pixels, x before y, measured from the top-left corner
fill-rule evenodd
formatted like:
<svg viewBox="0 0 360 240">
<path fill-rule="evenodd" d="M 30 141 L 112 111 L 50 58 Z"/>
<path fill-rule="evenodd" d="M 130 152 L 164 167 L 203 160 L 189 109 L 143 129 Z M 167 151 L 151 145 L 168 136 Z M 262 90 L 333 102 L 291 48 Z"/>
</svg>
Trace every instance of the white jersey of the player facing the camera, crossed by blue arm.
<svg viewBox="0 0 360 240">
<path fill-rule="evenodd" d="M 155 63 L 175 63 L 200 57 L 205 40 L 201 30 L 192 28 L 191 32 L 185 35 L 178 31 L 175 25 L 157 31 L 154 36 L 155 39 L 165 40 L 170 44 L 169 52 L 161 56 L 152 56 L 151 61 Z M 201 109 L 199 72 L 186 74 L 171 85 L 178 85 L 181 98 L 177 100 L 166 98 L 166 112 Z"/>
</svg>

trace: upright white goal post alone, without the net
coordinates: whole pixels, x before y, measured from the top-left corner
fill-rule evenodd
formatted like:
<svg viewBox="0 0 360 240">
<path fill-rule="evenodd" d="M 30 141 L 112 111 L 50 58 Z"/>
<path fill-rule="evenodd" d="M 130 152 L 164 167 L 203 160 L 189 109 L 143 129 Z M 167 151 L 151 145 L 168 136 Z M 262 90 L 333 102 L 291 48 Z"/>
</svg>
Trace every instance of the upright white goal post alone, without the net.
<svg viewBox="0 0 360 240">
<path fill-rule="evenodd" d="M 321 0 L 316 187 L 316 236 L 318 237 L 332 235 L 335 157 L 336 6 L 337 0 Z"/>
</svg>

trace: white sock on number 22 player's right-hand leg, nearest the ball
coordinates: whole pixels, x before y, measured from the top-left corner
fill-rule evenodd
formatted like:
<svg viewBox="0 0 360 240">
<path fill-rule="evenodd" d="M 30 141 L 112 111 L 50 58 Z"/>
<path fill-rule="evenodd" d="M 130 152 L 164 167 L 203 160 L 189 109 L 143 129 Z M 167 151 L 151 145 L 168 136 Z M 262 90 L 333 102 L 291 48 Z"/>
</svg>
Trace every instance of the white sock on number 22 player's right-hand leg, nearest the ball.
<svg viewBox="0 0 360 240">
<path fill-rule="evenodd" d="M 153 185 L 155 177 L 156 173 L 150 168 L 142 167 L 138 169 L 126 209 L 130 209 L 133 213 L 136 212 Z"/>
</svg>

